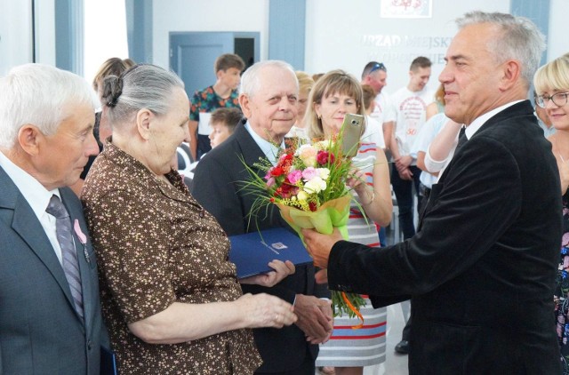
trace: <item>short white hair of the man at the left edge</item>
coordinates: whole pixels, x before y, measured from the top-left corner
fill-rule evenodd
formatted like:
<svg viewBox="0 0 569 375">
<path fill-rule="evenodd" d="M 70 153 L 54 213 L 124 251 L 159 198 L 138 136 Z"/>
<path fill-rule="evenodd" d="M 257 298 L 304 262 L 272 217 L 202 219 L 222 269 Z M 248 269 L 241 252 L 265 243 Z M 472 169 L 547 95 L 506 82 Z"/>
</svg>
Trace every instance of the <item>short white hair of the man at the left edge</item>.
<svg viewBox="0 0 569 375">
<path fill-rule="evenodd" d="M 75 105 L 99 107 L 91 85 L 80 76 L 43 64 L 12 68 L 0 78 L 0 147 L 13 148 L 18 132 L 33 124 L 53 135 Z"/>
</svg>

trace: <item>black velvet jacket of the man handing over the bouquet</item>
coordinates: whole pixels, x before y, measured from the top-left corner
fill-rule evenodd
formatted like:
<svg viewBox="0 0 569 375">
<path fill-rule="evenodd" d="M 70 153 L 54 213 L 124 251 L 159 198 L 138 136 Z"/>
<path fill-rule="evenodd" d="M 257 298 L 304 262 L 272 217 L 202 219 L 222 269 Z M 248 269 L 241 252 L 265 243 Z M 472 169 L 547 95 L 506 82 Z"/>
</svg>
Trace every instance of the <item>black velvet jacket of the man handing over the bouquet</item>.
<svg viewBox="0 0 569 375">
<path fill-rule="evenodd" d="M 417 235 L 379 250 L 336 243 L 328 282 L 376 307 L 413 297 L 411 374 L 558 374 L 561 207 L 551 145 L 525 100 L 457 150 Z"/>
</svg>

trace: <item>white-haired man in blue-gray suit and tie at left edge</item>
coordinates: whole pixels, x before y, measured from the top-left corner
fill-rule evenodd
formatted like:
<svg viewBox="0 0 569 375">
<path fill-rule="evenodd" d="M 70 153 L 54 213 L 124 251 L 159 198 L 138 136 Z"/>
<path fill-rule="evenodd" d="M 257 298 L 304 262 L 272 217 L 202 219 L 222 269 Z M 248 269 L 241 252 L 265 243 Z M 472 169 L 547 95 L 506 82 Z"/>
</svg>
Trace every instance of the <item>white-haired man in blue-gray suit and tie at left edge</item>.
<svg viewBox="0 0 569 375">
<path fill-rule="evenodd" d="M 93 95 L 83 78 L 37 64 L 0 80 L 0 373 L 100 373 L 97 263 L 67 187 L 99 152 Z M 67 241 L 52 202 L 67 211 Z"/>
</svg>

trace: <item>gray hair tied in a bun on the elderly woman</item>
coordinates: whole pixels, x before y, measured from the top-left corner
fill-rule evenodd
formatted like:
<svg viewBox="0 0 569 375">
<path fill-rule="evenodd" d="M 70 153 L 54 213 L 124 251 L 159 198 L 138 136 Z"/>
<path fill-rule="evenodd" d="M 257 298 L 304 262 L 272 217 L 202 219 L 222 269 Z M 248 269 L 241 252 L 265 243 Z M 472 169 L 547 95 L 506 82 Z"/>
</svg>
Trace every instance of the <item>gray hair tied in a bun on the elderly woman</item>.
<svg viewBox="0 0 569 375">
<path fill-rule="evenodd" d="M 164 115 L 171 106 L 171 94 L 184 83 L 174 73 L 156 65 L 140 64 L 121 76 L 108 76 L 103 81 L 101 101 L 108 107 L 112 126 L 129 120 L 141 108 Z M 189 104 L 188 104 L 189 106 Z"/>
</svg>

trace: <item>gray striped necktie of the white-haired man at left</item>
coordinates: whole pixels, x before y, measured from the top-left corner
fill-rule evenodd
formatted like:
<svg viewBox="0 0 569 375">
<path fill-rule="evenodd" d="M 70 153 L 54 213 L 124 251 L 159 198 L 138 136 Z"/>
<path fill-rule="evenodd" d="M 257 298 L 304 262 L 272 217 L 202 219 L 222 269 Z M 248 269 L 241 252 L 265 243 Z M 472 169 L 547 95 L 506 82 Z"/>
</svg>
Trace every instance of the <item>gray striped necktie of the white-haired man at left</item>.
<svg viewBox="0 0 569 375">
<path fill-rule="evenodd" d="M 50 203 L 45 211 L 55 216 L 55 232 L 57 234 L 57 241 L 60 243 L 61 247 L 63 271 L 65 272 L 65 277 L 68 279 L 71 296 L 73 297 L 77 314 L 83 318 L 81 274 L 79 273 L 77 253 L 75 244 L 73 243 L 69 213 L 65 209 L 63 203 L 61 203 L 60 197 L 57 195 L 52 195 L 52 199 L 50 199 Z"/>
</svg>

